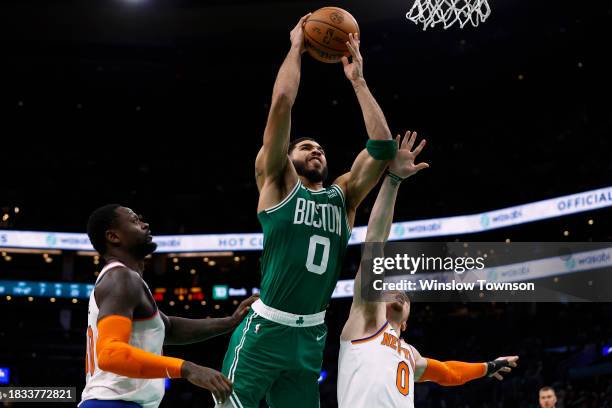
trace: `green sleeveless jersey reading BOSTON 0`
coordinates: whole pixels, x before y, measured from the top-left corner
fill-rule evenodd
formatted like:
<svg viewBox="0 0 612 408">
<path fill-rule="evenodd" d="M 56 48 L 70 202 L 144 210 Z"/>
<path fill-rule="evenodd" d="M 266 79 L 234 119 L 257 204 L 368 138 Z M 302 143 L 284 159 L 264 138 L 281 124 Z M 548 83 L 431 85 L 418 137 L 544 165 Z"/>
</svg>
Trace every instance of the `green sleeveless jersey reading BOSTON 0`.
<svg viewBox="0 0 612 408">
<path fill-rule="evenodd" d="M 350 237 L 340 187 L 313 191 L 298 180 L 283 201 L 257 217 L 264 234 L 261 300 L 294 314 L 325 310 Z"/>
</svg>

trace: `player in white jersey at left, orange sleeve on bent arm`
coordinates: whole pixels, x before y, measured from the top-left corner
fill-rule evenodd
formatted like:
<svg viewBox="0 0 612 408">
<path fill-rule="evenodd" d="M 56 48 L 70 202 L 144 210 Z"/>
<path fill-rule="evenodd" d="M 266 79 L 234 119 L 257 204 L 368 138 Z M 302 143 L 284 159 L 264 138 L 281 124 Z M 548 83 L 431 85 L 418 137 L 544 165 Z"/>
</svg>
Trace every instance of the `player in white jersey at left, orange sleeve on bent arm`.
<svg viewBox="0 0 612 408">
<path fill-rule="evenodd" d="M 89 297 L 86 384 L 80 408 L 155 408 L 165 378 L 186 378 L 217 400 L 232 384 L 220 372 L 162 356 L 164 344 L 189 344 L 235 328 L 257 299 L 243 301 L 231 317 L 183 319 L 166 316 L 142 279 L 144 258 L 157 244 L 149 224 L 116 204 L 95 210 L 87 233 L 106 266 Z"/>
</svg>

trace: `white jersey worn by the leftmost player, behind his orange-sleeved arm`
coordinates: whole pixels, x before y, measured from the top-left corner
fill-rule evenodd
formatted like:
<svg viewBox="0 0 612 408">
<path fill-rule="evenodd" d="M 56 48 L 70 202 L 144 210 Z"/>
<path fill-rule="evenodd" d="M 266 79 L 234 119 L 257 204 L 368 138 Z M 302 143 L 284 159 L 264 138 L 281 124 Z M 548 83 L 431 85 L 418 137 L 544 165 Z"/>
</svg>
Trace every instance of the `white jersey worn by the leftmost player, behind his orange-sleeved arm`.
<svg viewBox="0 0 612 408">
<path fill-rule="evenodd" d="M 118 266 L 125 265 L 120 262 L 111 262 L 106 265 L 100 272 L 96 284 L 108 270 Z M 144 285 L 148 288 L 146 283 Z M 81 396 L 82 401 L 90 399 L 123 400 L 136 402 L 144 408 L 157 408 L 164 396 L 165 384 L 163 378 L 128 378 L 108 371 L 102 371 L 98 367 L 96 343 L 98 341 L 97 324 L 99 311 L 94 291 L 92 290 L 89 296 L 89 315 L 87 318 L 87 354 L 85 356 L 87 377 L 85 389 Z M 164 322 L 159 315 L 159 311 L 156 311 L 148 319 L 133 320 L 130 345 L 161 355 L 164 335 Z"/>
</svg>

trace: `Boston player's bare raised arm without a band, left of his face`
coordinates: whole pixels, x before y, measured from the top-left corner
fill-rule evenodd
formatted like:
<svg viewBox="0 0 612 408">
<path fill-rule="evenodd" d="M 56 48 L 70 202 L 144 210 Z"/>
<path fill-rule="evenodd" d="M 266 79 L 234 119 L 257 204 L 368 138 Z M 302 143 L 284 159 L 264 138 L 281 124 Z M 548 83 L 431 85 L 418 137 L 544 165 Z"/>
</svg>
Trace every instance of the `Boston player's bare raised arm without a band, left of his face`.
<svg viewBox="0 0 612 408">
<path fill-rule="evenodd" d="M 264 130 L 263 146 L 255 160 L 257 188 L 261 191 L 266 182 L 276 182 L 284 176 L 287 165 L 289 133 L 291 130 L 291 109 L 300 85 L 302 53 L 304 52 L 305 15 L 291 30 L 291 48 L 276 76 L 272 91 L 272 102 L 268 122 Z M 293 172 L 297 182 L 297 174 Z"/>
</svg>

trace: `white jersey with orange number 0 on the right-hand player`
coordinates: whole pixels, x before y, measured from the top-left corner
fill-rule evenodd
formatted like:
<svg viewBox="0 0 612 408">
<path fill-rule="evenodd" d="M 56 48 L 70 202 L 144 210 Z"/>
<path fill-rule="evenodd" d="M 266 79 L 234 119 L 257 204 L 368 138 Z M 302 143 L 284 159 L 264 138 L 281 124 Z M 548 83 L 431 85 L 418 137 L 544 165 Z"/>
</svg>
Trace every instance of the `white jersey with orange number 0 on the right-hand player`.
<svg viewBox="0 0 612 408">
<path fill-rule="evenodd" d="M 412 347 L 389 323 L 372 336 L 340 341 L 339 408 L 414 408 Z"/>
</svg>

